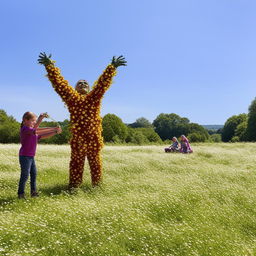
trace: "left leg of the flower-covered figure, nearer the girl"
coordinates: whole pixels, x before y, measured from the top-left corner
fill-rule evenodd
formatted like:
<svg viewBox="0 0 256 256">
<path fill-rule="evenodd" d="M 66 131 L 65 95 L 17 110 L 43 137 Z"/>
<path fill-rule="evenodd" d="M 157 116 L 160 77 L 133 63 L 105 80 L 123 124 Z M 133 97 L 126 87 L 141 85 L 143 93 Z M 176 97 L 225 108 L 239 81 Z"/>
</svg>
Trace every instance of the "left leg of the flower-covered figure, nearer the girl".
<svg viewBox="0 0 256 256">
<path fill-rule="evenodd" d="M 71 146 L 71 160 L 69 165 L 69 187 L 79 187 L 83 182 L 84 161 L 86 151 Z"/>
</svg>

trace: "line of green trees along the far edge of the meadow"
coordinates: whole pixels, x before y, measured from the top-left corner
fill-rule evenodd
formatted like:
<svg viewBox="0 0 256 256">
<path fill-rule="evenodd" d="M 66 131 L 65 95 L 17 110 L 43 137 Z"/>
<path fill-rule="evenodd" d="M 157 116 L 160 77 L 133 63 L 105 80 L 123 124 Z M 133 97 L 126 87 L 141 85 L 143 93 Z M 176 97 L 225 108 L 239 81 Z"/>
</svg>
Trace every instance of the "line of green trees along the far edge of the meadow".
<svg viewBox="0 0 256 256">
<path fill-rule="evenodd" d="M 70 139 L 69 120 L 59 122 L 62 133 L 42 140 L 40 143 L 66 144 Z M 42 122 L 41 127 L 56 126 L 55 122 Z M 256 141 L 256 98 L 249 106 L 248 114 L 234 115 L 225 122 L 222 129 L 209 130 L 188 118 L 177 114 L 159 114 L 151 123 L 144 117 L 134 123 L 125 124 L 114 114 L 107 114 L 102 120 L 102 135 L 105 142 L 130 144 L 170 143 L 172 137 L 182 134 L 190 142 L 238 142 Z M 19 143 L 20 123 L 0 109 L 0 143 Z"/>
</svg>

